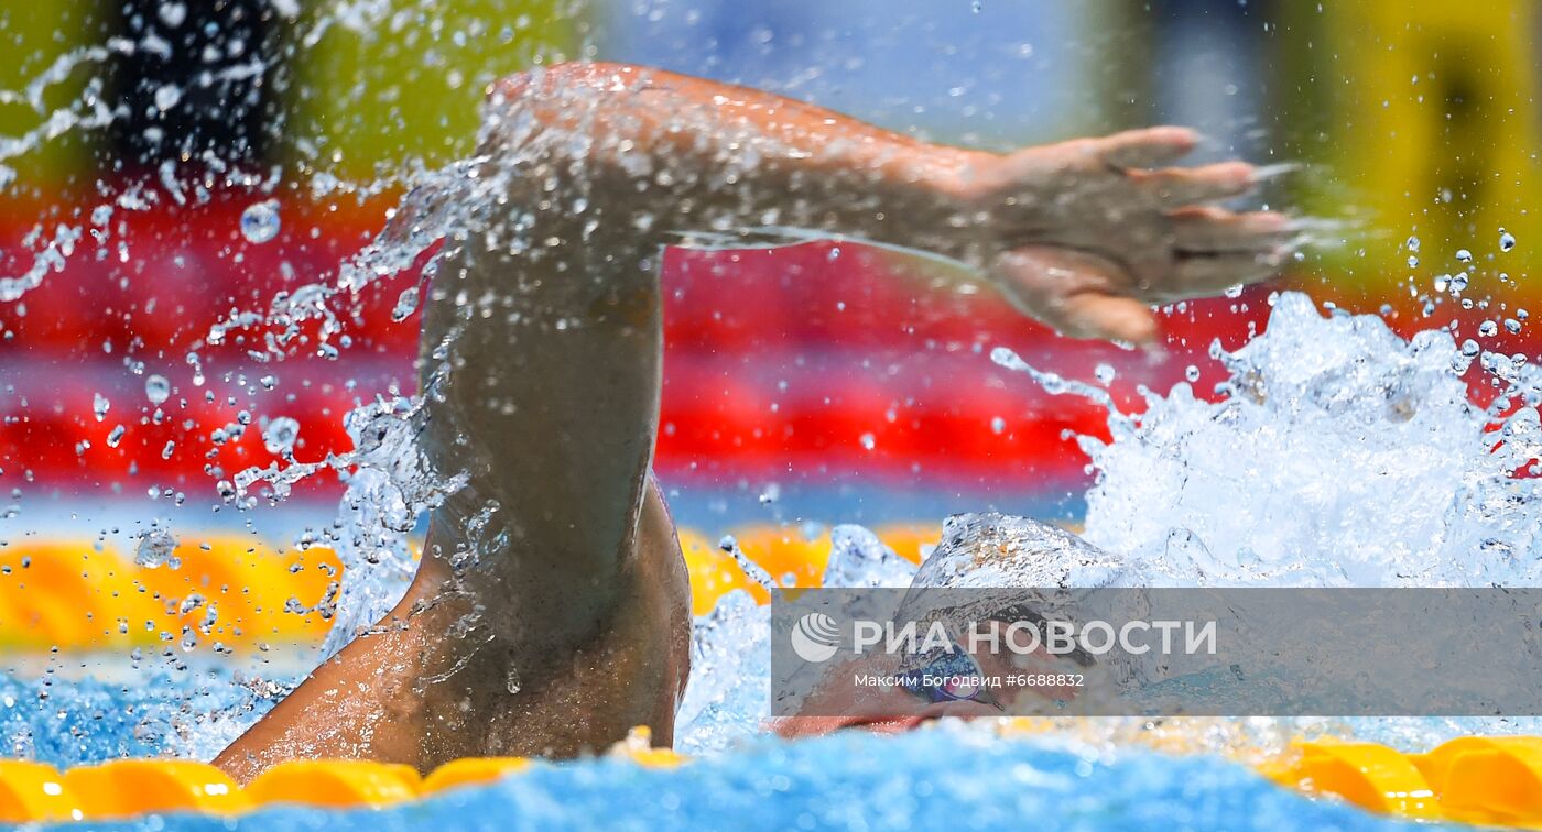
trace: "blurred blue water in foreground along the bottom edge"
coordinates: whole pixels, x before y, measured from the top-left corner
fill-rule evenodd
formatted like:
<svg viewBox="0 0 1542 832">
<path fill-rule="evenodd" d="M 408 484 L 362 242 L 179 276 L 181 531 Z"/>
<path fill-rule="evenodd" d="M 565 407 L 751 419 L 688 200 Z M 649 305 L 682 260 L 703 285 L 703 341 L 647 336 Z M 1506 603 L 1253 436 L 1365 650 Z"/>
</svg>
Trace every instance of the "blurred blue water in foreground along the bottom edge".
<svg viewBox="0 0 1542 832">
<path fill-rule="evenodd" d="M 759 740 L 675 770 L 594 760 L 389 810 L 274 807 L 93 829 L 1383 829 L 1212 757 L 1081 753 L 942 726 L 904 736 Z"/>
</svg>

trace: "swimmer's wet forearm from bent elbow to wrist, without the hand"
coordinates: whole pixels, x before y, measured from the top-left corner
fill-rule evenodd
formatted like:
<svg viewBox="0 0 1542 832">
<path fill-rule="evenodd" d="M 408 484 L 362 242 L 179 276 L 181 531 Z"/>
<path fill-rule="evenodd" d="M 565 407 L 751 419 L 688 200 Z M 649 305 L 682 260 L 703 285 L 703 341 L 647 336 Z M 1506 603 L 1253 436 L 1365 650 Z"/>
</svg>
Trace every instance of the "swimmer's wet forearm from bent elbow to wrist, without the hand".
<svg viewBox="0 0 1542 832">
<path fill-rule="evenodd" d="M 654 243 L 763 230 L 840 234 L 979 265 L 961 230 L 964 180 L 993 154 L 928 145 L 757 89 L 662 69 L 567 63 L 492 91 L 497 125 L 534 116 L 555 154 L 581 156 L 569 188 Z M 577 139 L 577 142 L 574 142 Z M 526 146 L 538 142 L 527 142 Z"/>
</svg>

